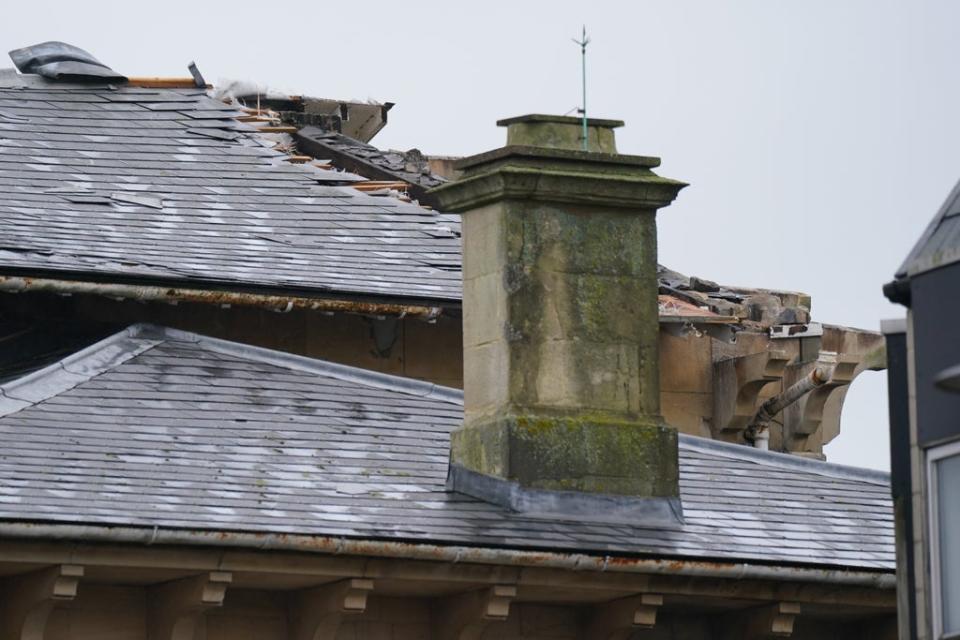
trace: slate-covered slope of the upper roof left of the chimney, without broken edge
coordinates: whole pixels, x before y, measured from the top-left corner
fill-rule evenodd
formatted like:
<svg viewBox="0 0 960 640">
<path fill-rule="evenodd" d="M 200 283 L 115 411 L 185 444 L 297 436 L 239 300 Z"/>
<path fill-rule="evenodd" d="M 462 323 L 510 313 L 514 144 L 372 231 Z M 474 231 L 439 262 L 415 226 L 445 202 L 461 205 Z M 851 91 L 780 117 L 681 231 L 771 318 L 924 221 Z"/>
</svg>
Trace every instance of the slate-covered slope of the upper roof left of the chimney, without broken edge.
<svg viewBox="0 0 960 640">
<path fill-rule="evenodd" d="M 457 219 L 292 165 L 202 89 L 0 72 L 0 273 L 457 300 Z"/>
</svg>

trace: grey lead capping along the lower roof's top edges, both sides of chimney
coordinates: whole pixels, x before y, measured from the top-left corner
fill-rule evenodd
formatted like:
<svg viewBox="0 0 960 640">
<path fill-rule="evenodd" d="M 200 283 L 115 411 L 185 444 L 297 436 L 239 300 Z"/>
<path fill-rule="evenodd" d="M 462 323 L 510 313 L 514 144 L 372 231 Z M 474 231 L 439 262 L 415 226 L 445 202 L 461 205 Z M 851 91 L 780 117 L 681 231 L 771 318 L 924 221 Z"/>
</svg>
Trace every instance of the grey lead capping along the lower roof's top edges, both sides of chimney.
<svg viewBox="0 0 960 640">
<path fill-rule="evenodd" d="M 20 411 L 71 389 L 93 376 L 143 353 L 164 340 L 194 342 L 234 357 L 257 360 L 316 375 L 330 376 L 397 393 L 433 398 L 456 405 L 463 404 L 463 391 L 443 387 L 432 382 L 212 338 L 189 331 L 140 323 L 108 336 L 63 360 L 0 385 L 0 416 Z M 890 474 L 884 471 L 849 467 L 802 458 L 788 453 L 761 451 L 741 444 L 721 442 L 684 433 L 678 434 L 678 437 L 685 449 L 733 460 L 748 460 L 757 464 L 813 473 L 838 480 L 866 482 L 882 486 L 890 484 Z"/>
</svg>

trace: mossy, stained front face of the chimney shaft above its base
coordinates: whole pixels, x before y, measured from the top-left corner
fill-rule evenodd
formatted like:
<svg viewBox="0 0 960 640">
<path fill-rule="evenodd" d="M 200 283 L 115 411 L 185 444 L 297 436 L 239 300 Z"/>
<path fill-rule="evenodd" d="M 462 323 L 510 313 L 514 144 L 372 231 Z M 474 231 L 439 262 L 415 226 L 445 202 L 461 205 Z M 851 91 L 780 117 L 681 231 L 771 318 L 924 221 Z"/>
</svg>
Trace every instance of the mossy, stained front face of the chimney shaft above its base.
<svg viewBox="0 0 960 640">
<path fill-rule="evenodd" d="M 658 414 L 655 368 L 638 359 L 655 356 L 658 339 L 652 212 L 505 207 L 502 335 L 510 343 L 511 402 L 543 406 L 546 388 L 563 387 L 588 411 L 612 402 L 624 414 Z"/>
</svg>

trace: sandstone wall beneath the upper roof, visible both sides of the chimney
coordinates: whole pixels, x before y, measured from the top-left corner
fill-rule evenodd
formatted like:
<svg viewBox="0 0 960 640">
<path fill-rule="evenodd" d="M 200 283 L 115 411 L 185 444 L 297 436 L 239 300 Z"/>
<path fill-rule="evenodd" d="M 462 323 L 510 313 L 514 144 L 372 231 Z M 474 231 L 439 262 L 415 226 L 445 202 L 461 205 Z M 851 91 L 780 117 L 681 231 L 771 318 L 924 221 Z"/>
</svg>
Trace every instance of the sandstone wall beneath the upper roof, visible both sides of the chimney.
<svg viewBox="0 0 960 640">
<path fill-rule="evenodd" d="M 279 349 L 372 371 L 463 387 L 461 319 L 421 319 L 200 304 L 142 304 L 96 296 L 0 294 L 0 314 L 25 322 L 89 324 L 109 333 L 152 322 L 226 340 Z M 839 434 L 849 384 L 864 369 L 882 368 L 878 334 L 824 327 L 815 338 L 772 339 L 742 331 L 731 342 L 702 327 L 675 331 L 661 323 L 660 405 L 667 424 L 683 433 L 745 442 L 745 423 L 759 404 L 806 375 L 821 350 L 838 354 L 834 380 L 778 416 L 770 447 L 813 456 Z M 732 335 L 732 334 L 731 334 Z M 496 379 L 496 378 L 493 378 Z"/>
</svg>

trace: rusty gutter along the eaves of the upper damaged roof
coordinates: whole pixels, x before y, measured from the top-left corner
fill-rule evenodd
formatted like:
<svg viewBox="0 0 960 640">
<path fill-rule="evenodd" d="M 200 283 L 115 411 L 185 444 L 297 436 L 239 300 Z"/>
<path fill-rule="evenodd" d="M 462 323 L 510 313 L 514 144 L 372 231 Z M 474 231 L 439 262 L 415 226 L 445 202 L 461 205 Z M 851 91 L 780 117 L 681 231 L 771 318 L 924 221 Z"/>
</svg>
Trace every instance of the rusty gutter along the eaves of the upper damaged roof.
<svg viewBox="0 0 960 640">
<path fill-rule="evenodd" d="M 302 309 L 376 316 L 407 316 L 421 320 L 433 320 L 443 312 L 441 307 L 424 305 L 308 298 L 292 295 L 264 295 L 260 293 L 215 289 L 185 289 L 181 287 L 160 287 L 153 285 L 81 282 L 78 280 L 4 275 L 0 275 L 0 291 L 8 293 L 47 292 L 61 295 L 97 295 L 108 298 L 139 300 L 144 302 L 167 302 L 173 304 L 196 302 L 219 306 L 256 307 L 278 312 Z"/>
</svg>

